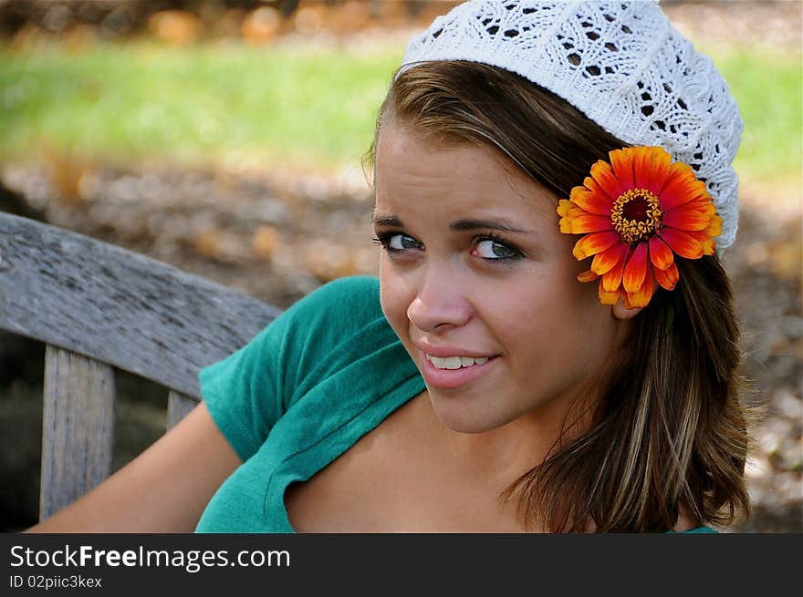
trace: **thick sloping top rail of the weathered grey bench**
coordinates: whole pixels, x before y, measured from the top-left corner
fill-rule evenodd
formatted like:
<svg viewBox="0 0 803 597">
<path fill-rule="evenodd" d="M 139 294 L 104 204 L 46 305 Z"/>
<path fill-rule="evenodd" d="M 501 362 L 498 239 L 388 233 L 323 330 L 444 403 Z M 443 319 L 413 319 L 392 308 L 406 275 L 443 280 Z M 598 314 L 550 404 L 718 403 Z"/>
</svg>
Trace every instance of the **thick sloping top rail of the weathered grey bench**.
<svg viewBox="0 0 803 597">
<path fill-rule="evenodd" d="M 87 236 L 0 212 L 0 328 L 200 397 L 198 370 L 281 311 Z"/>
</svg>

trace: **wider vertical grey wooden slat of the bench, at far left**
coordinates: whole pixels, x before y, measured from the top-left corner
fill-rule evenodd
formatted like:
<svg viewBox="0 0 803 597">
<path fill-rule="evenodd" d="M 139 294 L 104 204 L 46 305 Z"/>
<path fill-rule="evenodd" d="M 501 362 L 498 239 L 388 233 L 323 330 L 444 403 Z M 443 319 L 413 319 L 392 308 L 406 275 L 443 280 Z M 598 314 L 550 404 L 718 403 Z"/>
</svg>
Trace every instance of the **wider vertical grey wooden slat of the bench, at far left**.
<svg viewBox="0 0 803 597">
<path fill-rule="evenodd" d="M 46 346 L 39 520 L 109 477 L 114 398 L 110 365 Z"/>
</svg>

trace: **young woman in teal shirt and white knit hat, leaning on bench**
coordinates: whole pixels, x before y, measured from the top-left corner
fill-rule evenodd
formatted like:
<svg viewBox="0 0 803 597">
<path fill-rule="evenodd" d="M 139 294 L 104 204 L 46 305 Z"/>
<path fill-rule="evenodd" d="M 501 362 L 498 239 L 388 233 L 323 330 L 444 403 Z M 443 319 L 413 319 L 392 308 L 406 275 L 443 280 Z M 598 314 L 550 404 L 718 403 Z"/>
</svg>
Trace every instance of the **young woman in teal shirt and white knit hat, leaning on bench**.
<svg viewBox="0 0 803 597">
<path fill-rule="evenodd" d="M 183 423 L 33 530 L 663 532 L 748 513 L 718 257 L 741 129 L 652 2 L 458 5 L 381 108 L 379 279 L 326 284 L 203 369 Z"/>
</svg>

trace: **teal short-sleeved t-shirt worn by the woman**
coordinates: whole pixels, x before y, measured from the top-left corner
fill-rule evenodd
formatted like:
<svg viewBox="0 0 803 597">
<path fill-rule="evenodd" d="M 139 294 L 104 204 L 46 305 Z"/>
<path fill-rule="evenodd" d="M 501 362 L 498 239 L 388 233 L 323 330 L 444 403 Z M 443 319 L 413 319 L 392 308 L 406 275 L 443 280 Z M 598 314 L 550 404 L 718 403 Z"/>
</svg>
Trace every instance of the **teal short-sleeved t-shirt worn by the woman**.
<svg viewBox="0 0 803 597">
<path fill-rule="evenodd" d="M 379 280 L 340 278 L 203 368 L 201 393 L 243 460 L 196 532 L 294 532 L 285 489 L 311 478 L 424 386 L 385 319 Z M 693 532 L 712 531 L 708 527 Z"/>
</svg>

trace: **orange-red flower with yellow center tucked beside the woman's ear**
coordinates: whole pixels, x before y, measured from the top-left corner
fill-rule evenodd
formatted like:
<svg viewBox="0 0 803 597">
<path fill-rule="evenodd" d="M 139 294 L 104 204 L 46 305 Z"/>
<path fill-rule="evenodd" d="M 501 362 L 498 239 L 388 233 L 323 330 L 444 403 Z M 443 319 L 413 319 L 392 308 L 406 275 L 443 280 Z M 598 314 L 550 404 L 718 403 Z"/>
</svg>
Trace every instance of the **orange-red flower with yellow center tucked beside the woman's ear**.
<svg viewBox="0 0 803 597">
<path fill-rule="evenodd" d="M 629 308 L 650 303 L 656 284 L 673 290 L 680 278 L 674 255 L 714 253 L 722 218 L 694 170 L 660 147 L 614 149 L 582 187 L 558 203 L 560 232 L 583 234 L 578 261 L 593 256 L 580 282 L 600 278 L 600 302 Z"/>
</svg>

